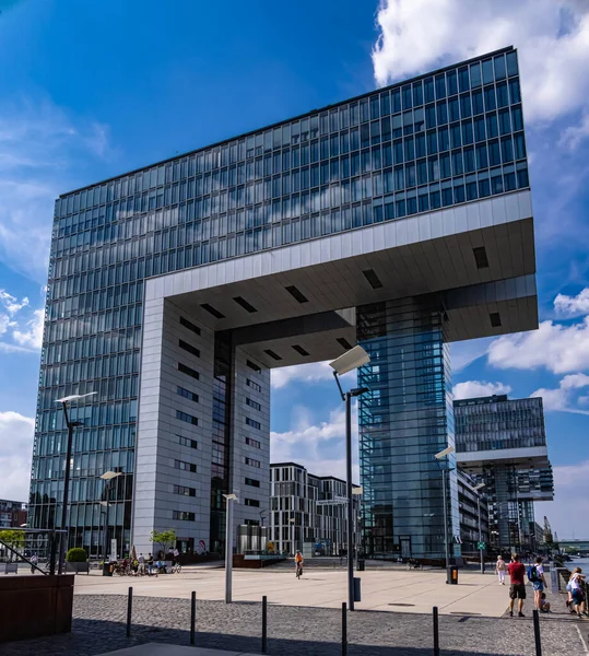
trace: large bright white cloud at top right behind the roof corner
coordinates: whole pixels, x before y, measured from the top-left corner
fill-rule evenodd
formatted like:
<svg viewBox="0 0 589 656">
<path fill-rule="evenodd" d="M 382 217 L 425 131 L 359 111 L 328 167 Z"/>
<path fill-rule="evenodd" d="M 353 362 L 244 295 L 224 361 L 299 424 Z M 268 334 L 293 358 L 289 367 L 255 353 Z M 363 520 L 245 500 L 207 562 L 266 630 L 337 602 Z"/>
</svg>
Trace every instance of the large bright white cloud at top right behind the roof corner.
<svg viewBox="0 0 589 656">
<path fill-rule="evenodd" d="M 528 120 L 587 106 L 589 5 L 575 0 L 382 0 L 373 50 L 379 84 L 514 44 Z"/>
</svg>

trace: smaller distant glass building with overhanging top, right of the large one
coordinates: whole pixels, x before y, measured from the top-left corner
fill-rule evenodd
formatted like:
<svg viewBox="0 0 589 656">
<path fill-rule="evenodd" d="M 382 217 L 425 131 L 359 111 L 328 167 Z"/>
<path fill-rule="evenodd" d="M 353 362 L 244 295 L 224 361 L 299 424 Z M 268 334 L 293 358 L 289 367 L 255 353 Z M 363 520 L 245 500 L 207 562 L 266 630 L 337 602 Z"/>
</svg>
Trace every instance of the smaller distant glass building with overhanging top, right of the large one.
<svg viewBox="0 0 589 656">
<path fill-rule="evenodd" d="M 457 461 L 485 484 L 491 548 L 537 550 L 533 503 L 554 496 L 542 399 L 497 395 L 453 406 Z"/>
</svg>

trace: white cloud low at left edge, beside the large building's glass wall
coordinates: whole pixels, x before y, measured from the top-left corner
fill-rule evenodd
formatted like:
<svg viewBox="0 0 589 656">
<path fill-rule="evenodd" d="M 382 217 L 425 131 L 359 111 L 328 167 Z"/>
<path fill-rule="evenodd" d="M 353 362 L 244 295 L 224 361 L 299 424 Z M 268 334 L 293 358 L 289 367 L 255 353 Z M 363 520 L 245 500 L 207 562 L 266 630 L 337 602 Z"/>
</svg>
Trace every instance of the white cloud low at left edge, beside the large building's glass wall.
<svg viewBox="0 0 589 656">
<path fill-rule="evenodd" d="M 0 499 L 28 500 L 35 421 L 17 412 L 0 412 Z"/>
</svg>

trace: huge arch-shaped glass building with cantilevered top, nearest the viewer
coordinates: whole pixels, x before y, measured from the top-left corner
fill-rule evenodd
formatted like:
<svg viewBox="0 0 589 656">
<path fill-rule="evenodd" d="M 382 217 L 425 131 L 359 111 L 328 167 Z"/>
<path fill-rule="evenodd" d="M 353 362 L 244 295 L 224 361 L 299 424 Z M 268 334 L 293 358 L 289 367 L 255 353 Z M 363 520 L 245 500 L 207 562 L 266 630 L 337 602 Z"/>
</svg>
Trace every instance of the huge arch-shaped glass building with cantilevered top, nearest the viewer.
<svg viewBox="0 0 589 656">
<path fill-rule="evenodd" d="M 443 502 L 433 462 L 453 444 L 447 344 L 535 328 L 534 271 L 513 48 L 64 194 L 32 526 L 61 515 L 54 401 L 96 391 L 72 409 L 71 544 L 101 552 L 116 469 L 121 550 L 154 527 L 223 549 L 223 492 L 269 499 L 269 370 L 360 341 L 366 546 L 439 557 L 443 503 L 458 530 L 456 473 Z"/>
</svg>

